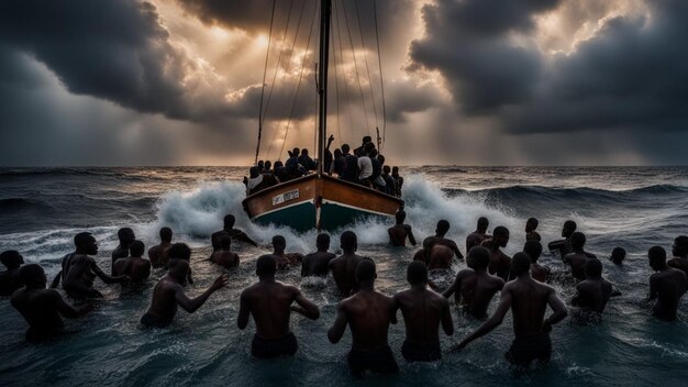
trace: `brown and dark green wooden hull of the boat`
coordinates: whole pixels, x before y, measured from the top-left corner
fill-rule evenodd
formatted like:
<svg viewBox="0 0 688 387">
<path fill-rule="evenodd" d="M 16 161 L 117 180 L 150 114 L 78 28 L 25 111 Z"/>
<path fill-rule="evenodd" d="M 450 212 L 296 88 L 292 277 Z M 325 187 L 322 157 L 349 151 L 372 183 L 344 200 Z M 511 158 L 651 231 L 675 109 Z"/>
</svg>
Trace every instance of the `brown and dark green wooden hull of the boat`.
<svg viewBox="0 0 688 387">
<path fill-rule="evenodd" d="M 330 176 L 309 175 L 251 195 L 243 204 L 256 223 L 303 232 L 333 231 L 360 220 L 389 218 L 403 201 Z"/>
</svg>

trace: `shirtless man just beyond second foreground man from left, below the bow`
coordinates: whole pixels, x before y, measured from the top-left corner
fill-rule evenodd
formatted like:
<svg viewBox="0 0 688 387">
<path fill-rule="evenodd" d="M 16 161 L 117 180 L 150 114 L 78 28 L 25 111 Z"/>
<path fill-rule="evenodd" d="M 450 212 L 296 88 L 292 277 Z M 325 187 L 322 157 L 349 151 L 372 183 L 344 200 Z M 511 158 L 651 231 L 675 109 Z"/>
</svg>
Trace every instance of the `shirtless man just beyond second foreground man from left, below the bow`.
<svg viewBox="0 0 688 387">
<path fill-rule="evenodd" d="M 342 255 L 330 261 L 330 270 L 332 270 L 332 278 L 334 278 L 337 290 L 340 290 L 340 296 L 348 297 L 358 289 L 356 266 L 363 257 L 356 255 L 358 239 L 353 231 L 342 233 L 342 236 L 340 236 L 340 245 L 342 247 Z"/>
</svg>

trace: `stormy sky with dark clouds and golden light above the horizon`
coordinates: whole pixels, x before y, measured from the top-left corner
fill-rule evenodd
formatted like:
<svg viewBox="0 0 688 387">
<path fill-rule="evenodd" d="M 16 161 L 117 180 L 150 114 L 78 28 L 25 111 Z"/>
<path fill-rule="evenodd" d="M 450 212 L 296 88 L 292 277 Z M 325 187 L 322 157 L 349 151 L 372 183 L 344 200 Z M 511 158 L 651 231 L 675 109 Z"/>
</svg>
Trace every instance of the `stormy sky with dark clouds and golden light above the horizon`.
<svg viewBox="0 0 688 387">
<path fill-rule="evenodd" d="M 249 165 L 268 49 L 260 158 L 313 148 L 317 7 L 276 0 L 270 23 L 273 0 L 0 2 L 0 166 Z M 386 122 L 401 165 L 688 159 L 688 1 L 334 0 L 333 16 L 335 146 Z"/>
</svg>

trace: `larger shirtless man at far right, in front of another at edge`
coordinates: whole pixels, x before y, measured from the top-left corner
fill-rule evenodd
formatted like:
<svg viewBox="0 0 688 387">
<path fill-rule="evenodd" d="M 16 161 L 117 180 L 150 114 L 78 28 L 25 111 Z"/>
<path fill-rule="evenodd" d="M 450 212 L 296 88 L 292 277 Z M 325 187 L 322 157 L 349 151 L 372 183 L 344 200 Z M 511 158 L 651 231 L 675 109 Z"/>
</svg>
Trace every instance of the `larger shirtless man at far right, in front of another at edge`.
<svg viewBox="0 0 688 387">
<path fill-rule="evenodd" d="M 676 320 L 676 311 L 680 298 L 686 292 L 688 279 L 686 273 L 666 264 L 666 251 L 654 246 L 647 252 L 650 267 L 655 272 L 650 276 L 648 301 L 656 300 L 652 308 L 652 316 L 657 319 Z"/>
</svg>

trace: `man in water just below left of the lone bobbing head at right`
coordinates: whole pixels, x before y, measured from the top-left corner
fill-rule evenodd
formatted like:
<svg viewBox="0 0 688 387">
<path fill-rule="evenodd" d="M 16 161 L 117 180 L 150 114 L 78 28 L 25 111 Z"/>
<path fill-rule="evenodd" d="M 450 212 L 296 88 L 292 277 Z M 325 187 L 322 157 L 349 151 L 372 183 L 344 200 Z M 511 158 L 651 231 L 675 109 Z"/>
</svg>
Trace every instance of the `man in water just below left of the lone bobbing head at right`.
<svg viewBox="0 0 688 387">
<path fill-rule="evenodd" d="M 611 284 L 602 278 L 602 263 L 599 259 L 588 259 L 585 274 L 586 279 L 576 286 L 577 294 L 572 299 L 572 305 L 602 313 L 612 296 Z"/>
</svg>

